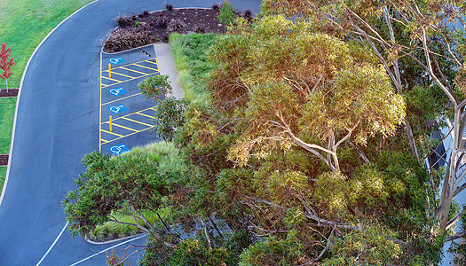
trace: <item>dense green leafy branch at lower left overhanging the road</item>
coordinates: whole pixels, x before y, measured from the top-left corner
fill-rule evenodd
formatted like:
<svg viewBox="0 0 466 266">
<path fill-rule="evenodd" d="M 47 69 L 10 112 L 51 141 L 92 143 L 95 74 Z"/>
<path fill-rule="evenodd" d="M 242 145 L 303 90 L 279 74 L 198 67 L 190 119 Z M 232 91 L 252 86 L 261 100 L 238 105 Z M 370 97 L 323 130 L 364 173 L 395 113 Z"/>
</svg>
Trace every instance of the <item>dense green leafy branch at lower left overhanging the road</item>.
<svg viewBox="0 0 466 266">
<path fill-rule="evenodd" d="M 85 236 L 91 232 L 97 239 L 105 239 L 117 230 L 134 233 L 138 229 L 117 229 L 115 223 L 107 223 L 115 220 L 115 216 L 110 219 L 110 215 L 132 213 L 142 219 L 145 215 L 151 216 L 146 210 L 165 207 L 163 204 L 167 197 L 183 178 L 179 176 L 182 168 L 176 167 L 180 160 L 177 162 L 172 156 L 161 156 L 163 148 L 170 151 L 168 146 L 154 144 L 118 157 L 99 152 L 85 155 L 83 164 L 86 171 L 75 180 L 78 188 L 69 192 L 62 201 L 72 235 Z M 159 153 L 151 153 L 151 149 Z M 171 169 L 170 165 L 175 165 L 175 168 Z M 125 218 L 127 216 L 120 217 L 129 222 Z"/>
</svg>

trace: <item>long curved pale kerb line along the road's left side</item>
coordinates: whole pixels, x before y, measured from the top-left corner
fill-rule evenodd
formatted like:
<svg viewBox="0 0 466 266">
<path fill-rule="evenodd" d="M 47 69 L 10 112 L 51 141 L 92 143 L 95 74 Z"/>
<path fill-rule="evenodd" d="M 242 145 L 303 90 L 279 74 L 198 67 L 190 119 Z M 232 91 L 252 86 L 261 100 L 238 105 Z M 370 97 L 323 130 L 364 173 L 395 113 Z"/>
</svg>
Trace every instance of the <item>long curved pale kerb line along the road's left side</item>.
<svg viewBox="0 0 466 266">
<path fill-rule="evenodd" d="M 0 195 L 0 207 L 2 206 L 2 203 L 4 202 L 4 193 L 6 191 L 6 185 L 8 184 L 8 179 L 10 177 L 10 168 L 11 168 L 11 164 L 12 164 L 12 153 L 13 153 L 13 145 L 14 145 L 14 136 L 15 136 L 15 133 L 16 133 L 16 119 L 17 119 L 17 114 L 18 114 L 18 106 L 20 106 L 20 96 L 21 96 L 21 91 L 22 91 L 22 87 L 23 87 L 23 82 L 24 82 L 24 76 L 26 75 L 26 72 L 28 71 L 28 67 L 29 67 L 29 63 L 31 62 L 31 60 L 34 58 L 34 56 L 36 55 L 36 51 L 39 50 L 39 48 L 41 48 L 43 42 L 45 42 L 49 36 L 58 28 L 61 26 L 61 24 L 63 24 L 65 21 L 67 21 L 69 18 L 71 18 L 72 16 L 75 15 L 75 13 L 77 12 L 80 12 L 81 10 L 83 10 L 85 7 L 87 7 L 88 5 L 91 5 L 91 4 L 94 4 L 96 3 L 97 1 L 99 0 L 94 0 L 92 1 L 91 3 L 89 4 L 86 4 L 84 5 L 82 8 L 78 9 L 77 11 L 75 11 L 74 13 L 72 13 L 71 15 L 69 15 L 65 20 L 62 20 L 61 22 L 59 22 L 59 25 L 57 25 L 57 27 L 54 27 L 51 32 L 46 35 L 42 42 L 39 43 L 39 45 L 37 45 L 36 47 L 36 50 L 32 53 L 31 57 L 28 59 L 28 64 L 26 64 L 26 67 L 24 68 L 24 72 L 23 72 L 23 75 L 21 77 L 21 83 L 20 83 L 20 90 L 18 91 L 18 97 L 16 98 L 16 107 L 15 107 L 15 110 L 14 110 L 14 119 L 13 119 L 13 129 L 12 129 L 12 144 L 10 145 L 10 156 L 8 158 L 8 165 L 6 166 L 6 176 L 4 177 L 4 187 L 2 189 L 2 194 Z"/>
</svg>

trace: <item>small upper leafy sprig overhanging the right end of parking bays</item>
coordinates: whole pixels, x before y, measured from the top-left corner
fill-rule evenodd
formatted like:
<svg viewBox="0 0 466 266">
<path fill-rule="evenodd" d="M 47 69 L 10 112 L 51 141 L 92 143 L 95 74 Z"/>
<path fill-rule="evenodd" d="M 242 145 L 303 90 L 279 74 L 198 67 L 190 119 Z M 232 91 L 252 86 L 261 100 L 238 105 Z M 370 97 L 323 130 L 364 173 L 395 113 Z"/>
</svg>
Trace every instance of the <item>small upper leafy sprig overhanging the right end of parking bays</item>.
<svg viewBox="0 0 466 266">
<path fill-rule="evenodd" d="M 167 74 L 157 74 L 146 77 L 144 81 L 138 83 L 138 89 L 146 94 L 147 98 L 152 97 L 160 101 L 168 93 L 171 93 L 169 76 Z"/>
</svg>

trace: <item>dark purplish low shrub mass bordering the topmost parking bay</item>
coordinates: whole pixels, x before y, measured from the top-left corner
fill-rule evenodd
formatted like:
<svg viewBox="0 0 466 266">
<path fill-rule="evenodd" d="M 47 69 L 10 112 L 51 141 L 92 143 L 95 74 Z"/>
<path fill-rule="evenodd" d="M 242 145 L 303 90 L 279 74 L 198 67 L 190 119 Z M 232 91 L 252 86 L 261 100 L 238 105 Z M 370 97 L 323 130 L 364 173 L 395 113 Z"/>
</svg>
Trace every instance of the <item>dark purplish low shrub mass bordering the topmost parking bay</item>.
<svg viewBox="0 0 466 266">
<path fill-rule="evenodd" d="M 125 51 L 154 42 L 154 35 L 147 29 L 122 30 L 116 28 L 104 43 L 107 52 Z"/>
</svg>

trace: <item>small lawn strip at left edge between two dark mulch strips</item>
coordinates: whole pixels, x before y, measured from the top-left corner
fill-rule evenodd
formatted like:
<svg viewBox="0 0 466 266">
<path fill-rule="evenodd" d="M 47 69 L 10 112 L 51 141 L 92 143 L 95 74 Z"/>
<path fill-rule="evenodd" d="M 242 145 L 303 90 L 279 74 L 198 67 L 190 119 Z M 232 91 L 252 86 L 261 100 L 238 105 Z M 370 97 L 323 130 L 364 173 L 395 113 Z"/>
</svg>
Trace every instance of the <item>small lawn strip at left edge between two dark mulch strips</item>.
<svg viewBox="0 0 466 266">
<path fill-rule="evenodd" d="M 0 98 L 0 154 L 10 153 L 15 107 L 16 98 Z"/>
</svg>

